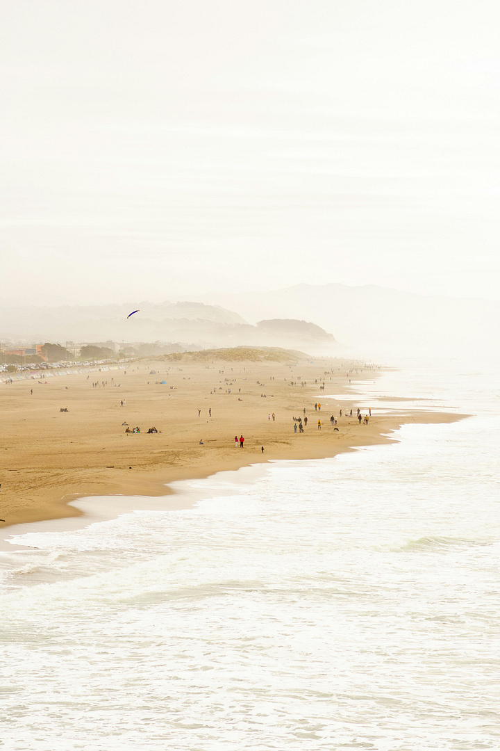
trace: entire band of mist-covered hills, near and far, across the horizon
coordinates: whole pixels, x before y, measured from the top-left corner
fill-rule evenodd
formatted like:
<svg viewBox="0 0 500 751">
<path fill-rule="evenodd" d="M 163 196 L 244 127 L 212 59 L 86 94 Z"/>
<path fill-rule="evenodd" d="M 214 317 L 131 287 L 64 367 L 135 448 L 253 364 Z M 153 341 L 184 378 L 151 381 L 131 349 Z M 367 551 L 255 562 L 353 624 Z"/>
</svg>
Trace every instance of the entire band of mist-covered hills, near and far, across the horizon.
<svg viewBox="0 0 500 751">
<path fill-rule="evenodd" d="M 135 308 L 139 313 L 127 319 Z M 175 342 L 179 349 L 260 345 L 338 354 L 346 347 L 497 346 L 499 321 L 500 303 L 494 300 L 375 285 L 300 284 L 271 292 L 209 293 L 189 302 L 5 307 L 0 341 Z"/>
</svg>

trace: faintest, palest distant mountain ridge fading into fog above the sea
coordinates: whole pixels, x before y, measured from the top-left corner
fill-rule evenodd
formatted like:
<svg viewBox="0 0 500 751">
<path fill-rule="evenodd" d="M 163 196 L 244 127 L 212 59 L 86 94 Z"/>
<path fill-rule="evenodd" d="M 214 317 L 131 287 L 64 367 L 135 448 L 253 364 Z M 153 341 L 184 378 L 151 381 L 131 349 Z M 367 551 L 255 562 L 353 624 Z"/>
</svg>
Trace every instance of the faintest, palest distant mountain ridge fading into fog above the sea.
<svg viewBox="0 0 500 751">
<path fill-rule="evenodd" d="M 496 300 L 412 294 L 393 288 L 299 284 L 271 292 L 197 298 L 259 318 L 305 318 L 333 330 L 341 345 L 498 344 Z"/>
</svg>

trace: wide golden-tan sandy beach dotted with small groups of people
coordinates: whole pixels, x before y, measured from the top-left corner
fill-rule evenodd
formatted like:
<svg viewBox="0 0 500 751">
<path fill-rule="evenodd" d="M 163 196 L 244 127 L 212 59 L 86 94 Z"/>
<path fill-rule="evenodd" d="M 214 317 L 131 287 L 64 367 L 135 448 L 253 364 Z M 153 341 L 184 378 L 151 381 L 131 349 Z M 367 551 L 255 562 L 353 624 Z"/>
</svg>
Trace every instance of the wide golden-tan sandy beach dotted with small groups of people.
<svg viewBox="0 0 500 751">
<path fill-rule="evenodd" d="M 358 424 L 346 387 L 349 379 L 352 388 L 377 372 L 333 358 L 151 359 L 127 371 L 1 385 L 0 526 L 79 515 L 67 502 L 82 496 L 165 496 L 172 481 L 268 460 L 331 457 L 387 442 L 403 422 L 457 419 L 374 409 L 368 424 Z M 353 417 L 346 417 L 351 408 Z M 304 409 L 307 426 L 295 433 L 293 418 L 304 418 Z M 141 432 L 126 433 L 127 427 Z M 148 433 L 150 427 L 158 433 Z M 241 435 L 244 448 L 235 445 Z"/>
</svg>

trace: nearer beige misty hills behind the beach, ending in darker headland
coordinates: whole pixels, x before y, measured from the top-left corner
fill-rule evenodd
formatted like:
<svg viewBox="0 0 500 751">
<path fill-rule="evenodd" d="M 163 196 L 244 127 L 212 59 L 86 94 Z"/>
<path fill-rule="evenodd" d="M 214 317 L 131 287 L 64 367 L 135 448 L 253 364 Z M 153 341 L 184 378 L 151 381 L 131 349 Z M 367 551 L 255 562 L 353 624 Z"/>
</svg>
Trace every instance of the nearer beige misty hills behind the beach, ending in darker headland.
<svg viewBox="0 0 500 751">
<path fill-rule="evenodd" d="M 127 315 L 136 307 L 139 312 Z M 177 342 L 178 348 L 260 345 L 331 352 L 331 333 L 308 321 L 248 324 L 236 312 L 199 302 L 0 309 L 0 341 Z"/>
</svg>

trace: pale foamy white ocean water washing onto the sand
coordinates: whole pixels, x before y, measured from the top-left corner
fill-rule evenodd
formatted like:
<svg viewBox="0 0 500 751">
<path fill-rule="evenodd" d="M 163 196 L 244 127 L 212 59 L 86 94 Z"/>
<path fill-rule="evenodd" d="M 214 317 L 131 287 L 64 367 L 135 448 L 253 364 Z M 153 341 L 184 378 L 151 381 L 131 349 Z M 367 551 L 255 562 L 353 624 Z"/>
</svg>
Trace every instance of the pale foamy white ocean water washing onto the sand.
<svg viewBox="0 0 500 751">
<path fill-rule="evenodd" d="M 396 364 L 352 382 L 375 418 L 470 416 L 5 530 L 0 747 L 498 749 L 498 365 Z"/>
</svg>

